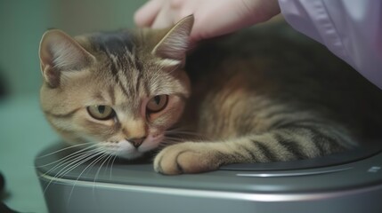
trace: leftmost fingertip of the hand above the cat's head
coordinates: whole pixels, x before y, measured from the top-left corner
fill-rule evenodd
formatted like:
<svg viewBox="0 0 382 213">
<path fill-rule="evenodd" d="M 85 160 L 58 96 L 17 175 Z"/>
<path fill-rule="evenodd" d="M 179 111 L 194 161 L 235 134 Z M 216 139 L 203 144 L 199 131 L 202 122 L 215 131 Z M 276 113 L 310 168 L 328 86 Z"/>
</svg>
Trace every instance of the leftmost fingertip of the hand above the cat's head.
<svg viewBox="0 0 382 213">
<path fill-rule="evenodd" d="M 134 22 L 138 27 L 150 27 L 161 8 L 161 0 L 150 0 L 134 13 Z"/>
</svg>

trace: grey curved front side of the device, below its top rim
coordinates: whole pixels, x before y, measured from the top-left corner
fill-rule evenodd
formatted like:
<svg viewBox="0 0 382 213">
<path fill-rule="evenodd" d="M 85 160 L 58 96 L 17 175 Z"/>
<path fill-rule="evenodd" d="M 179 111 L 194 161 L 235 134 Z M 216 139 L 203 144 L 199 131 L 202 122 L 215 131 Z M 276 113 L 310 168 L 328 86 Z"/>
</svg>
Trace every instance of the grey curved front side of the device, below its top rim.
<svg viewBox="0 0 382 213">
<path fill-rule="evenodd" d="M 53 186 L 55 193 L 46 196 L 52 212 L 310 212 L 310 213 L 379 213 L 382 205 L 380 197 L 382 187 L 368 191 L 341 193 L 340 196 L 321 194 L 305 201 L 261 201 L 269 194 L 231 193 L 216 196 L 222 192 L 173 191 L 168 188 L 126 187 L 102 188 L 101 185 L 81 185 L 78 183 L 72 192 L 73 185 L 57 184 Z M 230 193 L 229 193 L 230 194 Z M 306 198 L 310 194 L 283 194 L 281 198 L 297 196 Z M 254 198 L 254 200 L 251 200 Z M 256 198 L 260 201 L 256 201 Z M 277 199 L 277 198 L 276 198 Z"/>
</svg>

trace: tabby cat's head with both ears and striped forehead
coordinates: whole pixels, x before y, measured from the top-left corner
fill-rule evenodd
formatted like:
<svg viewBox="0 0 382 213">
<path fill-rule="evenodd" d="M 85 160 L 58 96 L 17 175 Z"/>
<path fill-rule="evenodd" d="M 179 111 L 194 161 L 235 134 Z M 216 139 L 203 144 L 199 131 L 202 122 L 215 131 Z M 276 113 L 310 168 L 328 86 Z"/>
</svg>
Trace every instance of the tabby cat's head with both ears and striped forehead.
<svg viewBox="0 0 382 213">
<path fill-rule="evenodd" d="M 172 28 L 70 37 L 49 30 L 40 43 L 41 106 L 71 144 L 91 142 L 133 159 L 162 142 L 183 114 L 183 70 L 193 16 Z"/>
</svg>

